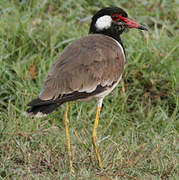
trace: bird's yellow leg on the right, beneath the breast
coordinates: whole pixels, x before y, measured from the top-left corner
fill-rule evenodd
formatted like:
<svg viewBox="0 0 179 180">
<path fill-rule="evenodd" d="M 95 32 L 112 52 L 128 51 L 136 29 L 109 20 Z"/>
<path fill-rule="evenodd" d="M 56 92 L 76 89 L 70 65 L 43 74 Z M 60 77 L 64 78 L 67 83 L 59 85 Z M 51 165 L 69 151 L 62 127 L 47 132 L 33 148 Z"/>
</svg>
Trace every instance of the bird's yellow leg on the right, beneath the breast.
<svg viewBox="0 0 179 180">
<path fill-rule="evenodd" d="M 99 121 L 99 114 L 101 111 L 101 106 L 98 106 L 97 111 L 96 111 L 96 119 L 94 122 L 94 128 L 93 128 L 93 135 L 92 135 L 92 142 L 94 146 L 94 151 L 98 160 L 98 165 L 102 169 L 102 161 L 101 161 L 101 156 L 98 152 L 98 147 L 97 147 L 97 127 L 98 127 L 98 121 Z"/>
</svg>

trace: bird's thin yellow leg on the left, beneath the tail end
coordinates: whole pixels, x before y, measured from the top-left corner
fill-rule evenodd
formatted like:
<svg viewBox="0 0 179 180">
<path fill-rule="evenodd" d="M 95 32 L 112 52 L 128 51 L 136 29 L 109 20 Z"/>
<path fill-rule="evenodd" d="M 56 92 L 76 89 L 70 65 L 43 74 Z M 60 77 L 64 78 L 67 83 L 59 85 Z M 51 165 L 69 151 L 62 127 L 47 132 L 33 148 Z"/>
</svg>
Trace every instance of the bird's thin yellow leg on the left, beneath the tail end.
<svg viewBox="0 0 179 180">
<path fill-rule="evenodd" d="M 73 162 L 71 159 L 71 146 L 70 146 L 70 136 L 69 136 L 69 120 L 68 120 L 68 111 L 69 111 L 70 104 L 66 103 L 66 110 L 65 110 L 65 135 L 67 141 L 67 149 L 68 149 L 68 157 L 70 162 L 70 171 L 74 173 L 73 169 Z"/>
</svg>

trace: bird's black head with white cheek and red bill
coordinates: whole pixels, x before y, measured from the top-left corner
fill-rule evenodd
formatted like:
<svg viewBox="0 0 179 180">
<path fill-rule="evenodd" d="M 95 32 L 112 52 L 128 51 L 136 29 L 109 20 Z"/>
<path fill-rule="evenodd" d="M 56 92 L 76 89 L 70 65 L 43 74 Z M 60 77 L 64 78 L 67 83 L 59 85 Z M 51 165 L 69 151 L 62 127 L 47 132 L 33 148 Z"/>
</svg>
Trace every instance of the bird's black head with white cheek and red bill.
<svg viewBox="0 0 179 180">
<path fill-rule="evenodd" d="M 130 20 L 123 9 L 107 7 L 92 17 L 89 33 L 105 34 L 119 41 L 120 34 L 128 28 L 147 30 L 144 26 Z"/>
</svg>

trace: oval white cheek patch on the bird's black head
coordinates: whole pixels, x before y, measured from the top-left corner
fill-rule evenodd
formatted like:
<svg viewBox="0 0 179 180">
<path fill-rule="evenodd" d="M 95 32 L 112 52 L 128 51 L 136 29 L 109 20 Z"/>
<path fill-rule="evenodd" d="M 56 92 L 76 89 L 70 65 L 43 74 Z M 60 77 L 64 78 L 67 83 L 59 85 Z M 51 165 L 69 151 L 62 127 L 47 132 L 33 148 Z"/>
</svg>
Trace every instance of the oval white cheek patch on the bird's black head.
<svg viewBox="0 0 179 180">
<path fill-rule="evenodd" d="M 108 15 L 105 15 L 97 19 L 95 26 L 97 30 L 103 30 L 111 27 L 111 23 L 112 23 L 112 18 Z"/>
</svg>

